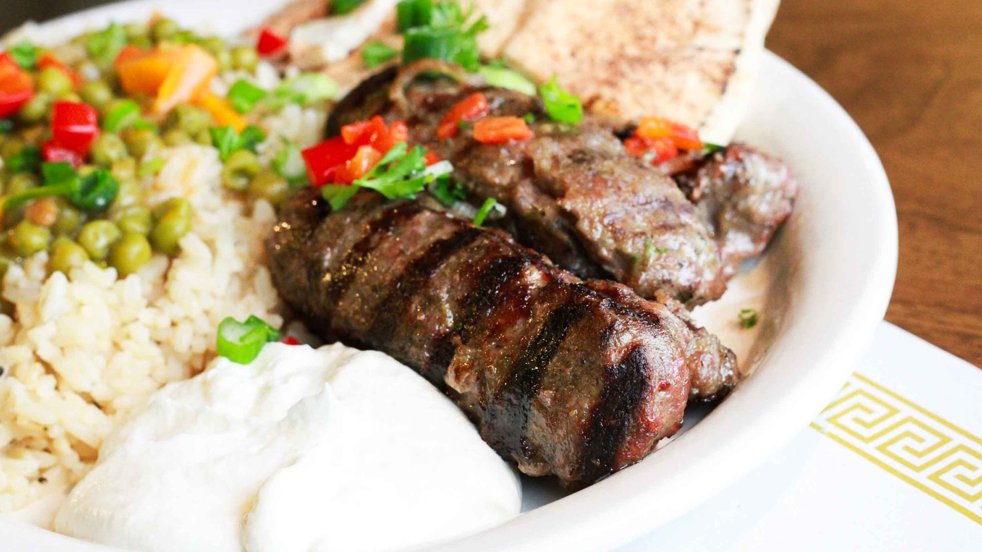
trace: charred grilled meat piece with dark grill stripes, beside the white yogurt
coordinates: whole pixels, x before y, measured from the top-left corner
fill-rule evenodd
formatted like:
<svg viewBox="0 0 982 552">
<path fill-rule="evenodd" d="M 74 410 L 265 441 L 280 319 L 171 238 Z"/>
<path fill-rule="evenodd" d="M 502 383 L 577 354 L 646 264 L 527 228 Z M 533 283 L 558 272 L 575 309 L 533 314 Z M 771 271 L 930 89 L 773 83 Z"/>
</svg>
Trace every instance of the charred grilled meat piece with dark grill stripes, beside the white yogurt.
<svg viewBox="0 0 982 552">
<path fill-rule="evenodd" d="M 271 270 L 311 329 L 416 369 L 525 473 L 578 486 L 639 461 L 681 427 L 692 359 L 733 367 L 670 307 L 424 201 L 331 212 L 306 191 L 281 216 Z"/>
</svg>

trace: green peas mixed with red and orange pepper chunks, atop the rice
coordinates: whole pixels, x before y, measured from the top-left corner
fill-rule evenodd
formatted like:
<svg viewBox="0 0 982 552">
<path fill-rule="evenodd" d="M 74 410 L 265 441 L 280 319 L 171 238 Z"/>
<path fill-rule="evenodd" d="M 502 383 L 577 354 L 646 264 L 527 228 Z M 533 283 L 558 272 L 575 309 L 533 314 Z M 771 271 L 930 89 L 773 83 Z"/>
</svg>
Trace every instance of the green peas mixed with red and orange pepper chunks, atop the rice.
<svg viewBox="0 0 982 552">
<path fill-rule="evenodd" d="M 185 197 L 153 203 L 162 152 L 214 146 L 222 185 L 274 206 L 305 183 L 300 147 L 267 140 L 263 114 L 332 98 L 326 76 L 299 74 L 272 89 L 250 79 L 284 40 L 254 44 L 199 35 L 172 20 L 110 25 L 44 48 L 0 53 L 0 271 L 48 251 L 48 271 L 86 261 L 136 272 L 154 252 L 174 256 L 191 230 Z M 217 76 L 238 76 L 216 93 Z"/>
</svg>

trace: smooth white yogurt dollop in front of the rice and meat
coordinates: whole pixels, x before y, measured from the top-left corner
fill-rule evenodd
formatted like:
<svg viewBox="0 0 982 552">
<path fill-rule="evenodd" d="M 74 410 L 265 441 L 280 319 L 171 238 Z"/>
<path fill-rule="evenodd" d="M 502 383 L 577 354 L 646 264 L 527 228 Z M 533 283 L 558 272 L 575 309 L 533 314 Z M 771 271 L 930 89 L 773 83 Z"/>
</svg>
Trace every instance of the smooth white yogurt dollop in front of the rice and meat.
<svg viewBox="0 0 982 552">
<path fill-rule="evenodd" d="M 395 359 L 267 345 L 110 436 L 59 532 L 147 552 L 403 550 L 516 515 L 515 472 Z"/>
</svg>

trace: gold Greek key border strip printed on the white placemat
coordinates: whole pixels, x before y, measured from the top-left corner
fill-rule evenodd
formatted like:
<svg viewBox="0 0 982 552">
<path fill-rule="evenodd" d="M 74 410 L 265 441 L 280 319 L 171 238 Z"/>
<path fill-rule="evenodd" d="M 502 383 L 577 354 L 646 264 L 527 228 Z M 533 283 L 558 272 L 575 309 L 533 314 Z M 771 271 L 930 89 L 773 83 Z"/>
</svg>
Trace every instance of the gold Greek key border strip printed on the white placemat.
<svg viewBox="0 0 982 552">
<path fill-rule="evenodd" d="M 857 373 L 811 426 L 982 524 L 982 439 Z"/>
</svg>

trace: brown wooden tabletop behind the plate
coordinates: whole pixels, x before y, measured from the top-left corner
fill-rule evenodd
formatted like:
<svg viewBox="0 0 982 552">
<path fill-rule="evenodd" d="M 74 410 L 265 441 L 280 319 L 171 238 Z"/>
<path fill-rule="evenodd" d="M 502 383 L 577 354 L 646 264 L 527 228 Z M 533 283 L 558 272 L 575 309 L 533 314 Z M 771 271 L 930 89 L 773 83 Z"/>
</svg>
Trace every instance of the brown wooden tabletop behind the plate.
<svg viewBox="0 0 982 552">
<path fill-rule="evenodd" d="M 0 27 L 101 3 L 14 2 Z M 982 365 L 982 1 L 785 0 L 768 45 L 846 106 L 887 167 L 887 319 Z"/>
</svg>

